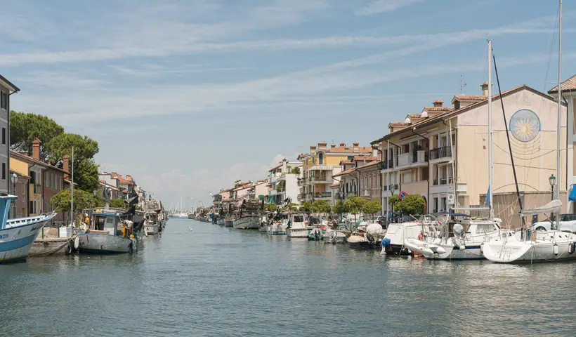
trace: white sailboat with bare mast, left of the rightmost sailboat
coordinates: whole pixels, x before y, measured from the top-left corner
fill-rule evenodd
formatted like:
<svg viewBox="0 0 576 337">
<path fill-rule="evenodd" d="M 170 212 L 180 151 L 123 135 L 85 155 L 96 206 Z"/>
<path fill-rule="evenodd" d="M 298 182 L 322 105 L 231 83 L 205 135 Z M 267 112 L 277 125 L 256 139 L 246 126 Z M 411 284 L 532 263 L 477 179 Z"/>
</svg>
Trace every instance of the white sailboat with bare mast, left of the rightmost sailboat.
<svg viewBox="0 0 576 337">
<path fill-rule="evenodd" d="M 486 203 L 488 207 L 452 208 L 452 211 L 487 211 L 487 218 L 474 218 L 462 213 L 449 213 L 442 220 L 428 215 L 420 223 L 411 227 L 420 227 L 419 238 L 404 236 L 404 246 L 411 251 L 422 254 L 425 258 L 434 260 L 473 260 L 484 259 L 482 244 L 492 238 L 499 238 L 502 220 L 494 217 L 492 207 L 493 185 L 493 142 L 492 142 L 492 41 L 488 40 L 488 192 Z M 452 125 L 450 124 L 450 133 Z M 450 135 L 452 139 L 452 135 Z M 452 145 L 453 146 L 453 145 Z M 452 149 L 452 153 L 454 150 Z M 454 181 L 454 194 L 457 192 Z M 454 200 L 457 200 L 454 197 Z M 450 216 L 457 218 L 450 223 Z M 452 229 L 453 236 L 450 234 Z"/>
</svg>

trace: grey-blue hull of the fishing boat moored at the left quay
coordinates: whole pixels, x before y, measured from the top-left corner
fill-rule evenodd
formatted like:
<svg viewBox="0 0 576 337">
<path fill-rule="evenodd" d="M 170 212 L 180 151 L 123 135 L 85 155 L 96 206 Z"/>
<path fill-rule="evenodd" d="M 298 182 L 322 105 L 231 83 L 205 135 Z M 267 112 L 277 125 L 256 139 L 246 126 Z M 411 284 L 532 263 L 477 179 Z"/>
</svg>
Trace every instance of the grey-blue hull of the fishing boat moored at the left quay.
<svg viewBox="0 0 576 337">
<path fill-rule="evenodd" d="M 81 253 L 130 253 L 136 250 L 136 242 L 128 237 L 118 237 L 116 235 L 104 233 L 83 233 L 79 234 L 79 250 Z"/>
</svg>

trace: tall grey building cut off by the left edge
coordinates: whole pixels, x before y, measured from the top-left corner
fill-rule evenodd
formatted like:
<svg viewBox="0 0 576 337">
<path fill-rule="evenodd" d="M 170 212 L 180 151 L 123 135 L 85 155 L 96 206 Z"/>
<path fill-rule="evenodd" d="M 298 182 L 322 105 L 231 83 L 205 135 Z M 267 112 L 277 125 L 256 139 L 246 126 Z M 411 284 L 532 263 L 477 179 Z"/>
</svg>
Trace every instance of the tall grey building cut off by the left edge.
<svg viewBox="0 0 576 337">
<path fill-rule="evenodd" d="M 0 193 L 11 191 L 10 174 L 10 95 L 20 89 L 0 74 Z"/>
</svg>

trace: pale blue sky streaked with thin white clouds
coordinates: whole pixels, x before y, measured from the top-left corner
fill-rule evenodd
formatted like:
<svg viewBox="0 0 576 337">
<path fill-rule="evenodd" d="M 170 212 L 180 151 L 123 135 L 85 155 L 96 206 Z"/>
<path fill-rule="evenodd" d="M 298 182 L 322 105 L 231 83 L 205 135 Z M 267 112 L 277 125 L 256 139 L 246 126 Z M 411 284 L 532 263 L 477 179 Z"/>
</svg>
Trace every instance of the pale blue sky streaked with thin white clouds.
<svg viewBox="0 0 576 337">
<path fill-rule="evenodd" d="M 576 3 L 563 6 L 563 79 Z M 207 204 L 310 145 L 361 145 L 433 100 L 558 78 L 558 1 L 2 1 L 11 108 L 98 141 L 102 171 Z M 193 198 L 193 199 L 190 199 Z"/>
</svg>

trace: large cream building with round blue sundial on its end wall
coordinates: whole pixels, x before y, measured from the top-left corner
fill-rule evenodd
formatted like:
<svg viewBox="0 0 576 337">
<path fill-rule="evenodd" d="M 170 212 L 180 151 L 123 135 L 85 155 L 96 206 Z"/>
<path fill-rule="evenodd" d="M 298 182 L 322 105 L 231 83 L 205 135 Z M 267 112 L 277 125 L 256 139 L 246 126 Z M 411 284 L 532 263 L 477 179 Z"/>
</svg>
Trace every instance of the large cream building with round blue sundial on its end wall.
<svg viewBox="0 0 576 337">
<path fill-rule="evenodd" d="M 455 95 L 452 107 L 436 100 L 418 115 L 391 122 L 386 136 L 372 142 L 382 153 L 383 211 L 389 211 L 391 185 L 395 194 L 404 190 L 424 197 L 431 213 L 447 211 L 452 205 L 483 206 L 488 185 L 487 84 L 481 87 L 481 95 Z M 525 85 L 505 91 L 502 98 L 504 118 L 499 95 L 492 103 L 493 205 L 497 216 L 517 225 L 519 218 L 509 216 L 518 209 L 510 209 L 517 205 L 511 202 L 516 187 L 506 133 L 525 208 L 545 204 L 550 201 L 549 178 L 556 173 L 557 105 L 553 97 Z M 565 111 L 562 116 L 561 143 L 565 144 Z M 561 150 L 561 177 L 557 178 L 561 194 L 566 196 L 566 177 L 573 176 L 572 171 L 567 175 L 567 163 L 574 159 L 572 147 Z M 565 211 L 568 200 L 564 198 Z"/>
</svg>

